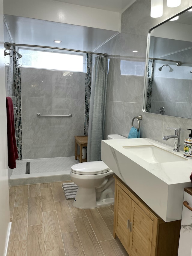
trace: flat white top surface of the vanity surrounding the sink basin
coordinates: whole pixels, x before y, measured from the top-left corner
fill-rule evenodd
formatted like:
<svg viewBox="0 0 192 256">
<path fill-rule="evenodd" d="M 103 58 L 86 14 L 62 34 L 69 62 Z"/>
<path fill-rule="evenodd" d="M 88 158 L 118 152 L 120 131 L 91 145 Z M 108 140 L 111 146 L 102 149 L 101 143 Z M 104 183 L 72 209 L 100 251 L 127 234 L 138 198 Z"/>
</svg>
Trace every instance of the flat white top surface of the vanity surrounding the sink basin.
<svg viewBox="0 0 192 256">
<path fill-rule="evenodd" d="M 183 156 L 183 151 L 173 152 L 173 147 L 167 146 L 158 141 L 149 138 L 138 138 L 138 139 L 122 139 L 122 140 L 104 140 L 110 147 L 116 149 L 123 155 L 126 155 L 129 159 L 145 168 L 147 171 L 163 180 L 167 184 L 177 184 L 190 182 L 189 176 L 192 172 L 192 158 L 186 158 Z M 174 140 L 173 140 L 174 143 Z M 139 156 L 127 152 L 124 146 L 145 146 L 154 145 L 169 151 L 175 155 L 179 155 L 184 158 L 185 161 L 166 162 L 166 163 L 148 163 Z M 192 183 L 191 183 L 192 186 Z"/>
</svg>

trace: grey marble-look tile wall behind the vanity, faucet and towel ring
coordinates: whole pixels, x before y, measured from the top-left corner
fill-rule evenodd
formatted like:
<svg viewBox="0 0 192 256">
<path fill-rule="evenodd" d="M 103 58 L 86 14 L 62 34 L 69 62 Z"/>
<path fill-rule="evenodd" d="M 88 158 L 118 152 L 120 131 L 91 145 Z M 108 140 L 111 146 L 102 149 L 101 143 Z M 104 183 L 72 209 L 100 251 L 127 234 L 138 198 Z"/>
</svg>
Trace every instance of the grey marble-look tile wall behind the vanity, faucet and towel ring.
<svg viewBox="0 0 192 256">
<path fill-rule="evenodd" d="M 182 1 L 181 5 L 176 8 L 168 8 L 164 1 L 163 16 L 154 19 L 150 17 L 151 0 L 137 0 L 122 14 L 121 33 L 98 51 L 145 59 L 149 29 L 190 6 L 192 6 L 192 0 Z M 134 50 L 138 52 L 133 53 Z M 192 119 L 144 113 L 142 111 L 144 74 L 143 76 L 122 76 L 116 69 L 113 79 L 110 78 L 110 80 L 107 94 L 105 138 L 107 138 L 107 134 L 113 133 L 128 137 L 133 117 L 142 115 L 141 137 L 148 137 L 173 146 L 173 140 L 165 141 L 162 140 L 162 137 L 174 133 L 167 127 L 179 127 L 181 128 L 182 150 L 184 138 L 188 137 L 187 129 L 192 128 Z M 137 123 L 134 122 L 134 125 L 136 126 Z"/>
</svg>

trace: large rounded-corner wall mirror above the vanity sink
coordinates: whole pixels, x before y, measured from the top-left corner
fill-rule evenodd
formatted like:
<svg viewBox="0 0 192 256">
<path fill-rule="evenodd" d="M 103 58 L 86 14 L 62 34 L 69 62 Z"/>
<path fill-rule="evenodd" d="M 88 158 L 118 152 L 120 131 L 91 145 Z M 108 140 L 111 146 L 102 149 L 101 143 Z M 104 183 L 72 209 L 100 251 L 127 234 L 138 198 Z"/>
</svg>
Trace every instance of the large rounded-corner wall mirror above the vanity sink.
<svg viewBox="0 0 192 256">
<path fill-rule="evenodd" d="M 143 111 L 192 118 L 190 8 L 149 31 Z"/>
</svg>

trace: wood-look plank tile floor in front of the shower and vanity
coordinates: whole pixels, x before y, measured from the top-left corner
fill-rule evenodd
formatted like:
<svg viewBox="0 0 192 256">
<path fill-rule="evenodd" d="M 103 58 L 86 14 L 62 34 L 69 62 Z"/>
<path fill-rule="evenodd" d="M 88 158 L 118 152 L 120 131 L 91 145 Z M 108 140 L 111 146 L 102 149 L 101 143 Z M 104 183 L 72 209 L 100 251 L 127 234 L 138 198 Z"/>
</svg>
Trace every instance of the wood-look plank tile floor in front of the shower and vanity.
<svg viewBox="0 0 192 256">
<path fill-rule="evenodd" d="M 113 239 L 114 206 L 77 209 L 62 183 L 10 187 L 7 256 L 128 256 Z"/>
</svg>

